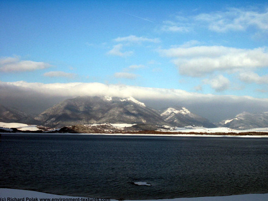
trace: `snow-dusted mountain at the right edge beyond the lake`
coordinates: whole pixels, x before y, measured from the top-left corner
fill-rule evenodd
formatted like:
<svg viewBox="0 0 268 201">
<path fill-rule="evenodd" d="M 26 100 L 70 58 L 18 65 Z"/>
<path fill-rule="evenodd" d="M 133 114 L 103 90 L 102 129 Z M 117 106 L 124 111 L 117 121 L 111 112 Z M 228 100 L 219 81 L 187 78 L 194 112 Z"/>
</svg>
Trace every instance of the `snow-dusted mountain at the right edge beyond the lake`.
<svg viewBox="0 0 268 201">
<path fill-rule="evenodd" d="M 219 122 L 217 126 L 233 129 L 265 128 L 268 127 L 268 112 L 258 114 L 242 112 L 234 118 Z"/>
</svg>

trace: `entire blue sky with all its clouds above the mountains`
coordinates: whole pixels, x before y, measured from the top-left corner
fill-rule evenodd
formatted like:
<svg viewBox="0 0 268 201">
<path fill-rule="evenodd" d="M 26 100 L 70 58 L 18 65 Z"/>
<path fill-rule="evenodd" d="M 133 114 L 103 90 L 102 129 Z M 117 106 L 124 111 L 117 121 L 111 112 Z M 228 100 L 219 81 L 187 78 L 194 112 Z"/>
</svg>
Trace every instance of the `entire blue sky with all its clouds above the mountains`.
<svg viewBox="0 0 268 201">
<path fill-rule="evenodd" d="M 1 0 L 0 104 L 34 113 L 78 95 L 212 122 L 268 111 L 268 2 Z"/>
</svg>

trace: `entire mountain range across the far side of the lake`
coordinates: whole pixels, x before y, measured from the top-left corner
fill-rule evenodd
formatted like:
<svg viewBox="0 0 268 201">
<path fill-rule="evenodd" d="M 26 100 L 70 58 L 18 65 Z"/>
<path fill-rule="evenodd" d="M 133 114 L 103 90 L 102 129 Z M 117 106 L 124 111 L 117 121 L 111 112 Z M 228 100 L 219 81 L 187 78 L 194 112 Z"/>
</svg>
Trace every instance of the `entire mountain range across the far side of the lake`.
<svg viewBox="0 0 268 201">
<path fill-rule="evenodd" d="M 152 129 L 155 125 L 249 129 L 268 127 L 268 112 L 261 114 L 243 112 L 236 117 L 213 124 L 185 107 L 154 110 L 133 97 L 79 96 L 64 100 L 35 118 L 18 109 L 0 105 L 0 122 L 36 124 L 50 128 L 110 123 L 137 124 L 139 127 Z"/>
</svg>

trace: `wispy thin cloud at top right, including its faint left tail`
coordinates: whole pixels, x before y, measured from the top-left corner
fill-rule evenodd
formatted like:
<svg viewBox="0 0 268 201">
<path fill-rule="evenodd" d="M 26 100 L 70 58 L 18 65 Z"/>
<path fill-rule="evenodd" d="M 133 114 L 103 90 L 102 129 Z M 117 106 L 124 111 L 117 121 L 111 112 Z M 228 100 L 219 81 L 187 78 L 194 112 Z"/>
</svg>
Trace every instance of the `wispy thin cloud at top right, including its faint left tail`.
<svg viewBox="0 0 268 201">
<path fill-rule="evenodd" d="M 208 28 L 210 31 L 225 33 L 228 31 L 268 31 L 268 8 L 264 12 L 230 8 L 227 11 L 217 11 L 211 13 L 202 13 L 199 15 L 176 16 L 171 20 L 163 21 L 160 28 L 165 32 L 187 33 L 198 28 Z M 254 29 L 252 29 L 254 28 Z"/>
</svg>

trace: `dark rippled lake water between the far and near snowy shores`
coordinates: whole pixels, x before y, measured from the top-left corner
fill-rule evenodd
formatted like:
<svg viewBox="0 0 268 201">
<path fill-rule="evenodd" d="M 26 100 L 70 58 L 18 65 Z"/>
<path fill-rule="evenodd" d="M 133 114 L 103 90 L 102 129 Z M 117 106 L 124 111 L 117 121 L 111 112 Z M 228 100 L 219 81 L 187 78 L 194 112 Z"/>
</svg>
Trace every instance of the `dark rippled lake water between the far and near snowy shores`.
<svg viewBox="0 0 268 201">
<path fill-rule="evenodd" d="M 0 187 L 111 199 L 268 193 L 268 138 L 2 135 Z"/>
</svg>

